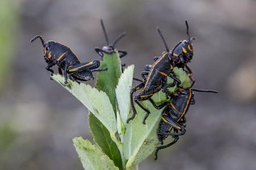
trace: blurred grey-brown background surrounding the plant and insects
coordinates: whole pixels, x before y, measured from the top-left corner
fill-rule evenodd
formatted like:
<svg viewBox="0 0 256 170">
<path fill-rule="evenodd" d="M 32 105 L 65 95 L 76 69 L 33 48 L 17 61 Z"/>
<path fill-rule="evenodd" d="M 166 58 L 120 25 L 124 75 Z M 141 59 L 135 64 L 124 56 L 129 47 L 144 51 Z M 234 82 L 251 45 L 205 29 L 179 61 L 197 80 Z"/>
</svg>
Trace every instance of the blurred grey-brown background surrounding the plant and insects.
<svg viewBox="0 0 256 170">
<path fill-rule="evenodd" d="M 140 77 L 144 65 L 186 39 L 187 19 L 195 56 L 189 65 L 196 88 L 180 141 L 142 162 L 140 169 L 256 168 L 256 1 L 0 1 L 0 169 L 82 169 L 72 138 L 92 140 L 87 109 L 49 79 L 35 35 L 70 46 L 82 61 L 97 58 L 110 40 Z M 3 10 L 5 9 L 5 10 Z M 4 53 L 3 53 L 4 51 Z M 93 82 L 90 82 L 93 84 Z"/>
</svg>

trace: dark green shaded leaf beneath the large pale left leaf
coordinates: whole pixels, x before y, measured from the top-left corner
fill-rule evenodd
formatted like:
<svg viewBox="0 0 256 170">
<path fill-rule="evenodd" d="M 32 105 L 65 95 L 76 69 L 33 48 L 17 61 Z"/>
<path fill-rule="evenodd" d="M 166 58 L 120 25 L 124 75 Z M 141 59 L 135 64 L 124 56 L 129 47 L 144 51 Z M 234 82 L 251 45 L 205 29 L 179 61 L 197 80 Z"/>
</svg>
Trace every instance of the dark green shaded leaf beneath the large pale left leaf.
<svg viewBox="0 0 256 170">
<path fill-rule="evenodd" d="M 89 113 L 89 126 L 94 142 L 100 143 L 102 151 L 113 160 L 115 166 L 123 169 L 122 159 L 117 145 L 112 141 L 108 129 L 92 113 Z"/>
</svg>

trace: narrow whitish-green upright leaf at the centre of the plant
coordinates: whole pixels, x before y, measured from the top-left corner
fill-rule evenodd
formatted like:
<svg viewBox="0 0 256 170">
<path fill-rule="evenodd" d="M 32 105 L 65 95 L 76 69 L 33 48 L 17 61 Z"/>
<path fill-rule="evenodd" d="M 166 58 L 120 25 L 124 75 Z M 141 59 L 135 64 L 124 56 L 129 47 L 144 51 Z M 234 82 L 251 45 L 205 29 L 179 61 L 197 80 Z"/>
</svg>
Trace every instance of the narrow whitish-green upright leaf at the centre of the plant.
<svg viewBox="0 0 256 170">
<path fill-rule="evenodd" d="M 117 94 L 117 104 L 119 115 L 124 125 L 130 113 L 130 91 L 133 84 L 134 65 L 128 66 L 121 75 L 115 94 Z"/>
</svg>

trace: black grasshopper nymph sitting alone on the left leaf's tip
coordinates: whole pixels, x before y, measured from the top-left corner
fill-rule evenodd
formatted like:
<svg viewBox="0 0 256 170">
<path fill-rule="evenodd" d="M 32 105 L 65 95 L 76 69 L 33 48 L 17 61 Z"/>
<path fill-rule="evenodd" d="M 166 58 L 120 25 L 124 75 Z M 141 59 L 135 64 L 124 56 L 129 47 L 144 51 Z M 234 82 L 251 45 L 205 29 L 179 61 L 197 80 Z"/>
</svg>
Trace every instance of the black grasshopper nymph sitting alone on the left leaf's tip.
<svg viewBox="0 0 256 170">
<path fill-rule="evenodd" d="M 55 41 L 47 41 L 45 42 L 42 36 L 35 36 L 31 42 L 36 39 L 40 39 L 44 48 L 44 59 L 48 64 L 46 66 L 46 70 L 51 72 L 51 75 L 54 71 L 51 67 L 57 65 L 59 74 L 65 77 L 65 83 L 68 83 L 68 76 L 71 80 L 93 80 L 94 76 L 92 74 L 93 71 L 105 71 L 106 68 L 98 68 L 100 66 L 100 61 L 98 59 L 94 59 L 90 62 L 79 61 L 76 54 L 72 52 L 72 50 L 66 46 L 61 44 L 60 42 Z M 64 71 L 64 73 L 62 72 Z"/>
</svg>

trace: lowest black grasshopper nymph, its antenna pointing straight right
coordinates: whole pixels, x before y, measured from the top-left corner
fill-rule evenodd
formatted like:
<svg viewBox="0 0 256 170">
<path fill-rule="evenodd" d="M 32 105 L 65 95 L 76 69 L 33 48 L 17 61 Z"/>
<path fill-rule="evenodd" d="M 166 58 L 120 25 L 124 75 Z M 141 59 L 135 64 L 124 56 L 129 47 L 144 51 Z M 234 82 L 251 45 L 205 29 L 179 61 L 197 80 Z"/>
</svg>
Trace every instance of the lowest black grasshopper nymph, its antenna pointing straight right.
<svg viewBox="0 0 256 170">
<path fill-rule="evenodd" d="M 174 145 L 178 140 L 180 135 L 185 134 L 185 114 L 188 112 L 189 106 L 195 104 L 195 98 L 193 91 L 197 92 L 211 92 L 217 94 L 214 90 L 200 90 L 196 88 L 180 88 L 171 96 L 171 101 L 160 105 L 154 105 L 157 109 L 162 109 L 162 120 L 159 123 L 158 128 L 158 140 L 161 145 L 163 145 L 163 140 L 168 136 L 172 136 L 174 141 L 168 143 L 164 146 L 159 146 L 155 151 L 155 160 L 158 159 L 158 151 L 164 148 Z M 152 99 L 151 99 L 152 100 Z M 151 101 L 152 103 L 152 101 Z M 152 103 L 154 104 L 154 102 Z M 172 132 L 172 129 L 174 132 Z"/>
</svg>

